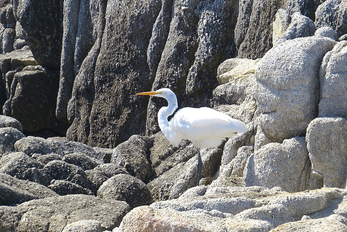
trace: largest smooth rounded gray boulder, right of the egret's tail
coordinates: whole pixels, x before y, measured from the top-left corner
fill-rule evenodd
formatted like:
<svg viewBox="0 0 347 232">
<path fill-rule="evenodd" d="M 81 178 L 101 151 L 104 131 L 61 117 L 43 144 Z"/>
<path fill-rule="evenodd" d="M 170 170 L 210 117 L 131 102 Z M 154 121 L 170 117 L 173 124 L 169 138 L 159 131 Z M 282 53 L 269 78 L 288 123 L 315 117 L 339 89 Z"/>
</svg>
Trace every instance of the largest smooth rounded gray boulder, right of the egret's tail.
<svg viewBox="0 0 347 232">
<path fill-rule="evenodd" d="M 281 143 L 306 133 L 318 115 L 319 67 L 335 44 L 327 37 L 295 38 L 266 53 L 255 71 L 254 97 L 260 113 L 255 144 L 266 139 Z"/>
</svg>

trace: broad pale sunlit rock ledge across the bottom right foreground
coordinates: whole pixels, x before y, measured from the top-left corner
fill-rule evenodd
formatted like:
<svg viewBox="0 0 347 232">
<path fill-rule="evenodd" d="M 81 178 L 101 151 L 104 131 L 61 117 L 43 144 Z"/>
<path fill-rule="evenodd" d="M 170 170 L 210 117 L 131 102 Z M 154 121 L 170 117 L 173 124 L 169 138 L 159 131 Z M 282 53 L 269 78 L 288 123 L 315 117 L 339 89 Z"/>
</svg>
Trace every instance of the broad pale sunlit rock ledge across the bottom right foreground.
<svg viewBox="0 0 347 232">
<path fill-rule="evenodd" d="M 273 229 L 271 231 L 274 232 L 295 224 L 299 225 L 294 228 L 319 231 L 313 229 L 316 226 L 312 227 L 312 223 L 320 223 L 319 220 L 324 223 L 322 228 L 345 229 L 345 196 L 345 190 L 329 188 L 298 193 L 261 187 L 207 188 L 195 197 L 185 198 L 182 195 L 179 199 L 137 207 L 123 218 L 114 231 L 167 231 L 175 227 L 175 231 L 246 232 Z M 330 211 L 332 216 L 329 216 L 329 210 L 333 210 Z M 310 219 L 298 221 L 303 216 Z"/>
</svg>

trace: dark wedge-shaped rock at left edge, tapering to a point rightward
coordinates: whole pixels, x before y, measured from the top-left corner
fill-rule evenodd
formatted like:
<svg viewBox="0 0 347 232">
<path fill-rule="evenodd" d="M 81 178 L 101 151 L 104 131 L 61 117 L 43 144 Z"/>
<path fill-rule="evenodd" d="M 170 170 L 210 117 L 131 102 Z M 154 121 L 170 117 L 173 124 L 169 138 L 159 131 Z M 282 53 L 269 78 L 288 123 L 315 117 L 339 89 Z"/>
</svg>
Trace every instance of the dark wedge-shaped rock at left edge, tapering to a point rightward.
<svg viewBox="0 0 347 232">
<path fill-rule="evenodd" d="M 0 173 L 0 205 L 15 205 L 33 199 L 54 197 L 55 192 L 31 181 Z"/>
</svg>

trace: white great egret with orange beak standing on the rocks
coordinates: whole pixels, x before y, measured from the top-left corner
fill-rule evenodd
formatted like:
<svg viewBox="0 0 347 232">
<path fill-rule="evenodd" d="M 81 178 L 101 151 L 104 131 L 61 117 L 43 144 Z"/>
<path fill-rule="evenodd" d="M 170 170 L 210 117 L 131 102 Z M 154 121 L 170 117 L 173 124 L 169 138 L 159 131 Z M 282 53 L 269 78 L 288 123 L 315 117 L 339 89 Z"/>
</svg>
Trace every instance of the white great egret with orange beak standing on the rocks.
<svg viewBox="0 0 347 232">
<path fill-rule="evenodd" d="M 178 147 L 182 139 L 188 139 L 197 147 L 196 186 L 199 185 L 202 171 L 200 148 L 218 147 L 223 137 L 247 131 L 245 123 L 208 107 L 182 108 L 169 122 L 168 117 L 174 113 L 178 105 L 175 93 L 167 88 L 136 95 L 151 95 L 168 101 L 169 105 L 162 107 L 158 112 L 159 127 L 172 145 Z"/>
</svg>

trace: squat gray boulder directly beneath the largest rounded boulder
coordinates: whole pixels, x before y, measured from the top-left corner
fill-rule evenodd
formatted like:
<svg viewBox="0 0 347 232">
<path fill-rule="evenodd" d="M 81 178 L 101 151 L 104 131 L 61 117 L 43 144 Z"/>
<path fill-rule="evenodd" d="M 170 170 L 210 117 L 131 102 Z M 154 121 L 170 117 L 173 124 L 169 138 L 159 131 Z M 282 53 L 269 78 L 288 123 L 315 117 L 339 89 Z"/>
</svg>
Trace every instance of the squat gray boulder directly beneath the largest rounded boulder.
<svg viewBox="0 0 347 232">
<path fill-rule="evenodd" d="M 308 187 L 310 160 L 304 137 L 280 143 L 269 143 L 255 151 L 244 170 L 246 186 L 275 186 L 288 192 L 304 191 Z"/>
</svg>

